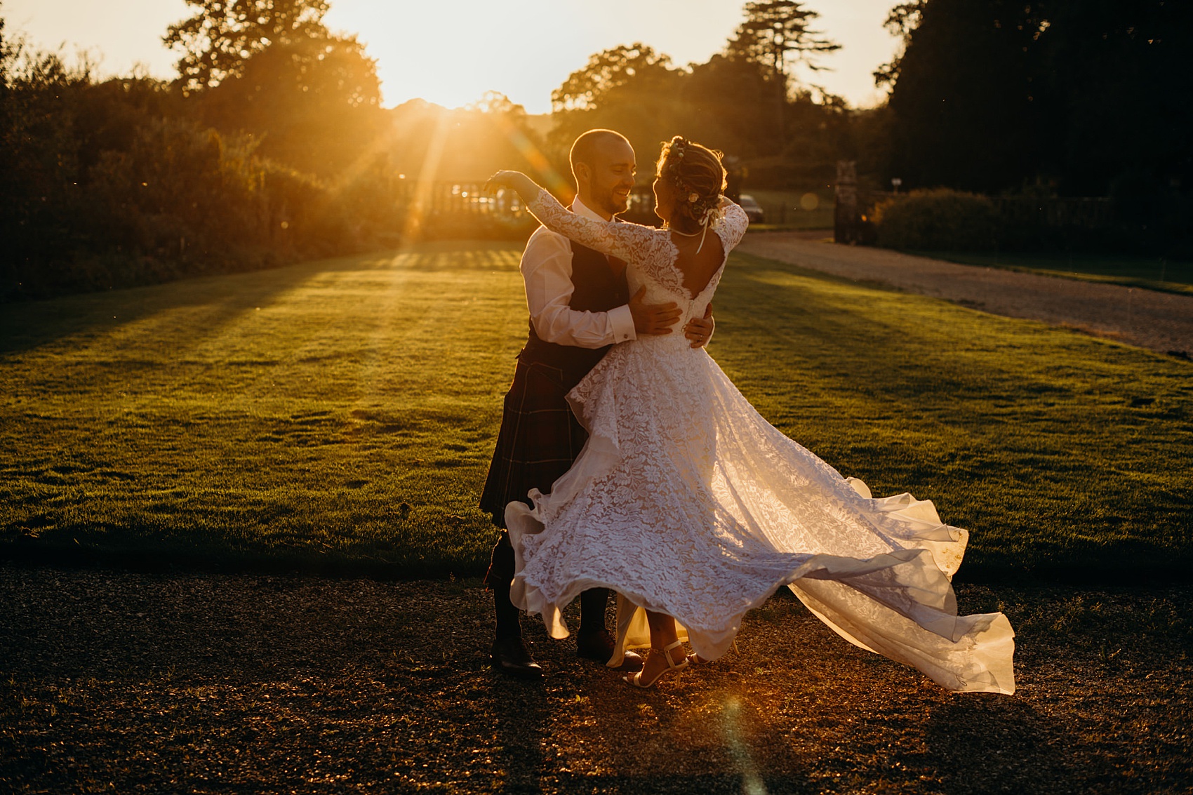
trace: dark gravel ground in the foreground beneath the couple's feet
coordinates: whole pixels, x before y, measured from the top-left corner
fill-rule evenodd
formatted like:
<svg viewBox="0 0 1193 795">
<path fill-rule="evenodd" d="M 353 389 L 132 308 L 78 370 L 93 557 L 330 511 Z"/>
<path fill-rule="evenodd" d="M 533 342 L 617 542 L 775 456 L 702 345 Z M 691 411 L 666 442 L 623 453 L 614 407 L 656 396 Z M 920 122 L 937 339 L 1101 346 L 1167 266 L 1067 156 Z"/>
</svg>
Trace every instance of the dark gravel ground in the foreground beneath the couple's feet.
<svg viewBox="0 0 1193 795">
<path fill-rule="evenodd" d="M 1191 592 L 958 588 L 1019 633 L 1015 696 L 948 694 L 792 598 L 635 691 L 474 583 L 0 565 L 0 791 L 1187 793 Z"/>
</svg>

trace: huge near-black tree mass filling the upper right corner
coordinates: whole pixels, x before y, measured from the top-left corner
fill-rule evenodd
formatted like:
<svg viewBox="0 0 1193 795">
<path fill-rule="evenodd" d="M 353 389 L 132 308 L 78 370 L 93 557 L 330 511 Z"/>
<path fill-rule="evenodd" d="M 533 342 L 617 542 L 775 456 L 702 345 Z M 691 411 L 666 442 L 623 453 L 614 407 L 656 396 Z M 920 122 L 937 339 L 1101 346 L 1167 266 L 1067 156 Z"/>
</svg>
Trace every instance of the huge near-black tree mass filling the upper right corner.
<svg viewBox="0 0 1193 795">
<path fill-rule="evenodd" d="M 1187 191 L 1193 6 L 1170 0 L 919 0 L 888 25 L 884 178 L 1065 195 Z"/>
</svg>

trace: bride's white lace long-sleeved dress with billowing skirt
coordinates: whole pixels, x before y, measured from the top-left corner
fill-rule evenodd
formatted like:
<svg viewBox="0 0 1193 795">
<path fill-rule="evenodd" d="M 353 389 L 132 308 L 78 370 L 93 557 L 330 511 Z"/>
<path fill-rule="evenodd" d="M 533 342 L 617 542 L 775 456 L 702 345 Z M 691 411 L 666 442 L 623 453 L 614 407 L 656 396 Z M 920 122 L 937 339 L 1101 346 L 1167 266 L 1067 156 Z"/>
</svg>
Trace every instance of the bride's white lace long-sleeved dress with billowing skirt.
<svg viewBox="0 0 1193 795">
<path fill-rule="evenodd" d="M 629 263 L 630 292 L 675 301 L 676 329 L 704 314 L 724 263 L 691 295 L 668 232 L 576 216 L 543 191 L 550 229 Z M 748 222 L 725 203 L 712 233 L 728 253 Z M 711 235 L 710 235 L 710 241 Z M 709 245 L 706 242 L 705 245 Z M 966 531 L 910 494 L 871 498 L 754 411 L 682 333 L 616 345 L 568 395 L 589 439 L 534 507 L 511 503 L 514 604 L 567 636 L 581 591 L 618 592 L 618 665 L 648 645 L 641 608 L 674 616 L 700 657 L 725 653 L 742 616 L 780 585 L 861 648 L 951 690 L 1013 692 L 1014 633 L 999 612 L 957 615 L 950 578 Z"/>
</svg>

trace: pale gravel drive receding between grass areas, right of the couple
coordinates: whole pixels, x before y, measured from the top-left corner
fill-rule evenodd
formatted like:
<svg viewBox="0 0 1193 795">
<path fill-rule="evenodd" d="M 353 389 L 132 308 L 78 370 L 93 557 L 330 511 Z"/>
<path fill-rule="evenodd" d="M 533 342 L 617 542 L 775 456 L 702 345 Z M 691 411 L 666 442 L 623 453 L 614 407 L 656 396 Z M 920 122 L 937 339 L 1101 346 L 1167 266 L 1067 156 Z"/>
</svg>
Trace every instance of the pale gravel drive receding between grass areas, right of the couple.
<svg viewBox="0 0 1193 795">
<path fill-rule="evenodd" d="M 808 233 L 746 235 L 738 251 L 848 279 L 880 282 L 996 315 L 1071 326 L 1161 353 L 1193 356 L 1193 296 L 1188 295 L 956 265 L 885 248 L 837 246 Z"/>
</svg>

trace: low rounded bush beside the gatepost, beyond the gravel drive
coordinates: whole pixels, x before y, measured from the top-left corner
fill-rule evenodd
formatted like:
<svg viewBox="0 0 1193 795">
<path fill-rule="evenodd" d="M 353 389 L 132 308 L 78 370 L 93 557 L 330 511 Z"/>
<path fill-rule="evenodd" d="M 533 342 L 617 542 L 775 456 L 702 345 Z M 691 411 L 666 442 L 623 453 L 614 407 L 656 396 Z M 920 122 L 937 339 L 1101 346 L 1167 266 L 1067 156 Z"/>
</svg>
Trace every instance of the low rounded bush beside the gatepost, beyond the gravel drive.
<svg viewBox="0 0 1193 795">
<path fill-rule="evenodd" d="M 878 245 L 923 251 L 982 251 L 999 242 L 999 211 L 984 196 L 913 191 L 874 208 Z"/>
</svg>

